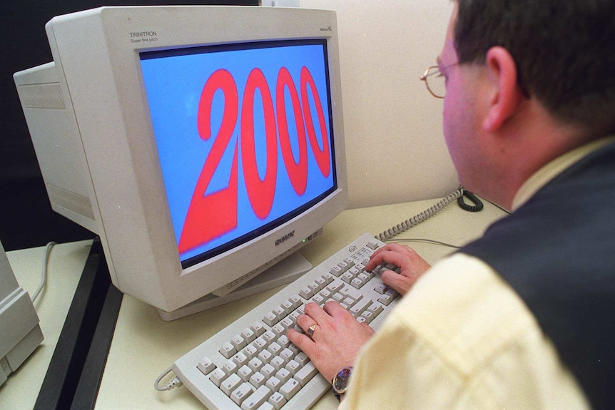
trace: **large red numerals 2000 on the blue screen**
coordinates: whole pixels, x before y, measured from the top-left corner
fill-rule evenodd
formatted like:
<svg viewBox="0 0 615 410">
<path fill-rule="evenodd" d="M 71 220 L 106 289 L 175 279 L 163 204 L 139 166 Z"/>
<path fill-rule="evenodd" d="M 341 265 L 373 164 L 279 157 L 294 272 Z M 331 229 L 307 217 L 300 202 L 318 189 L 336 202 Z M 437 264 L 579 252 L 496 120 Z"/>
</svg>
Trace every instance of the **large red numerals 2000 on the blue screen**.
<svg viewBox="0 0 615 410">
<path fill-rule="evenodd" d="M 310 88 L 316 106 L 316 114 L 322 137 L 322 149 L 320 149 L 316 138 L 314 121 L 312 112 L 310 111 L 308 87 Z M 263 103 L 263 116 L 265 117 L 265 152 L 267 154 L 267 165 L 265 167 L 265 177 L 263 179 L 258 175 L 254 145 L 253 106 L 257 88 L 258 91 L 260 91 L 260 98 Z M 285 89 L 288 89 L 290 101 L 293 106 L 293 116 L 295 117 L 299 151 L 298 161 L 295 161 L 290 145 L 285 108 Z M 305 193 L 305 188 L 308 183 L 308 145 L 305 138 L 306 132 L 320 173 L 325 177 L 330 173 L 331 160 L 325 113 L 322 110 L 320 96 L 318 96 L 314 79 L 308 68 L 303 67 L 301 69 L 301 98 L 299 98 L 299 93 L 288 69 L 285 67 L 280 68 L 276 84 L 275 113 L 273 98 L 271 97 L 267 79 L 260 69 L 254 68 L 250 72 L 245 84 L 243 103 L 241 106 L 240 138 L 238 142 L 235 143 L 228 185 L 226 188 L 218 190 L 218 192 L 205 195 L 215 170 L 220 164 L 223 153 L 228 148 L 238 119 L 239 98 L 233 75 L 223 69 L 215 71 L 208 78 L 200 95 L 197 116 L 197 128 L 200 138 L 203 140 L 211 138 L 211 103 L 214 94 L 218 90 L 222 91 L 224 95 L 223 118 L 218 130 L 218 135 L 213 141 L 210 153 L 203 165 L 203 170 L 201 170 L 198 177 L 192 200 L 190 200 L 190 206 L 188 207 L 188 213 L 185 217 L 178 245 L 180 252 L 185 252 L 198 245 L 207 243 L 215 237 L 220 237 L 220 235 L 237 227 L 238 143 L 241 144 L 241 165 L 243 167 L 243 175 L 245 175 L 244 182 L 248 192 L 250 206 L 254 214 L 261 220 L 268 217 L 271 207 L 273 206 L 275 183 L 278 178 L 277 134 L 279 134 L 280 137 L 280 149 L 282 150 L 285 169 L 288 173 L 290 183 L 293 185 L 293 190 L 295 190 L 297 195 L 303 195 L 303 193 Z"/>
</svg>

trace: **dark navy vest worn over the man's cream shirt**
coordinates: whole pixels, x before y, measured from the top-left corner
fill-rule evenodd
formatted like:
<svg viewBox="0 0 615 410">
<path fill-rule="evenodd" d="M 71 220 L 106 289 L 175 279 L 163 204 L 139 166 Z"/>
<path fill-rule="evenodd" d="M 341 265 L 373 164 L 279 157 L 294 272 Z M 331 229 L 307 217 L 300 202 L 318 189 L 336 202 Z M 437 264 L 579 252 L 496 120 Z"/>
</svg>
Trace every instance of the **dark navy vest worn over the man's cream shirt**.
<svg viewBox="0 0 615 410">
<path fill-rule="evenodd" d="M 487 262 L 522 297 L 594 409 L 615 409 L 615 143 L 461 252 Z"/>
</svg>

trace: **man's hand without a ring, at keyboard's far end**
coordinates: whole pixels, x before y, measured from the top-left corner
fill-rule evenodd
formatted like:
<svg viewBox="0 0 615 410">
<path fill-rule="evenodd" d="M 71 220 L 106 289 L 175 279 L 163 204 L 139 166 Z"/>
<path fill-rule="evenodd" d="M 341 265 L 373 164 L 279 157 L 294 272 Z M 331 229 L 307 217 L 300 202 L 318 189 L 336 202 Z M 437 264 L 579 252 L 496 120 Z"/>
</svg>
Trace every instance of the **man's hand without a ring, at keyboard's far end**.
<svg viewBox="0 0 615 410">
<path fill-rule="evenodd" d="M 400 267 L 401 274 L 397 275 L 397 273 L 392 271 L 382 272 L 382 282 L 385 282 L 385 284 L 402 295 L 406 294 L 419 277 L 431 267 L 411 247 L 391 243 L 374 252 L 365 270 L 373 270 L 377 265 L 387 263 Z"/>
</svg>

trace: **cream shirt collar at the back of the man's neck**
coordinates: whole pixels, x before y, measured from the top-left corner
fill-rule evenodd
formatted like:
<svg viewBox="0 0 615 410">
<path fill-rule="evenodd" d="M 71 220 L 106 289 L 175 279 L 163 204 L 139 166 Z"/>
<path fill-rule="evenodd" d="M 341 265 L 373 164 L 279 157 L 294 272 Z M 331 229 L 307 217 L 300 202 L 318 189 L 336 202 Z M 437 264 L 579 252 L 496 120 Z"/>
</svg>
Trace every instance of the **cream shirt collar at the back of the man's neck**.
<svg viewBox="0 0 615 410">
<path fill-rule="evenodd" d="M 611 137 L 601 138 L 599 140 L 592 141 L 586 145 L 581 145 L 579 148 L 575 148 L 558 158 L 555 158 L 544 167 L 537 170 L 534 175 L 529 177 L 527 181 L 521 185 L 521 188 L 514 195 L 512 200 L 512 210 L 517 210 L 521 205 L 526 203 L 529 198 L 537 193 L 537 191 L 547 185 L 550 180 L 559 175 L 566 168 L 569 168 L 572 164 L 584 158 L 586 155 L 593 153 L 595 150 L 604 147 L 611 142 L 615 141 L 615 135 Z"/>
</svg>

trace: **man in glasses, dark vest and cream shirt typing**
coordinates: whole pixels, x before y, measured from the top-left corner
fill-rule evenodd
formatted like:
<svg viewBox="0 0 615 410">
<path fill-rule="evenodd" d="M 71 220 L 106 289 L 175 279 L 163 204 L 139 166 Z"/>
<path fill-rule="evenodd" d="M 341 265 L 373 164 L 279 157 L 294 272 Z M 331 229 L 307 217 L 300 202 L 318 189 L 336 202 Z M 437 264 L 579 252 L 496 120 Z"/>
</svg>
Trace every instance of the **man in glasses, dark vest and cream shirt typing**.
<svg viewBox="0 0 615 410">
<path fill-rule="evenodd" d="M 457 0 L 438 69 L 459 180 L 512 210 L 431 267 L 378 334 L 308 304 L 288 338 L 345 409 L 615 408 L 615 1 Z M 430 76 L 434 81 L 437 76 Z M 428 84 L 428 88 L 431 88 Z"/>
</svg>

